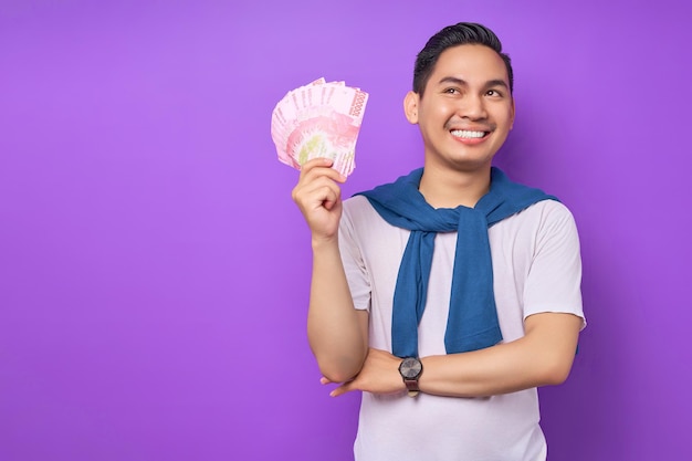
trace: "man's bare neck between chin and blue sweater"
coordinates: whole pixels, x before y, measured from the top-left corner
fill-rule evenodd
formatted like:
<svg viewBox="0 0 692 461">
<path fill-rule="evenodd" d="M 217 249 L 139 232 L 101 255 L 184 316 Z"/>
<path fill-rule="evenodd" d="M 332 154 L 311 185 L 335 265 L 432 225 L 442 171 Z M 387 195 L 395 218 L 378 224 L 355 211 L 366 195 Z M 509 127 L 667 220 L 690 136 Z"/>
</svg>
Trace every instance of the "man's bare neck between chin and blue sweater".
<svg viewBox="0 0 692 461">
<path fill-rule="evenodd" d="M 490 165 L 471 171 L 426 166 L 419 191 L 433 208 L 473 208 L 490 190 Z"/>
</svg>

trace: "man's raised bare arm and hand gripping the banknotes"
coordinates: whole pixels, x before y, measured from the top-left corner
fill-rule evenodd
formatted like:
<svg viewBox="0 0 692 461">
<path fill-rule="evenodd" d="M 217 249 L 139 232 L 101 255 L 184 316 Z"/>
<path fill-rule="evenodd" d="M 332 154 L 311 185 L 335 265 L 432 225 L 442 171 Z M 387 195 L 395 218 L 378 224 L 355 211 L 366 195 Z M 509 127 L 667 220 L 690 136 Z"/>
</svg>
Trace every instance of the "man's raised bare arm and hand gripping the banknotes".
<svg viewBox="0 0 692 461">
<path fill-rule="evenodd" d="M 307 337 L 322 374 L 334 383 L 355 377 L 368 353 L 368 314 L 354 308 L 338 248 L 340 188 L 346 178 L 315 159 L 301 169 L 293 200 L 312 233 L 313 274 Z"/>
</svg>

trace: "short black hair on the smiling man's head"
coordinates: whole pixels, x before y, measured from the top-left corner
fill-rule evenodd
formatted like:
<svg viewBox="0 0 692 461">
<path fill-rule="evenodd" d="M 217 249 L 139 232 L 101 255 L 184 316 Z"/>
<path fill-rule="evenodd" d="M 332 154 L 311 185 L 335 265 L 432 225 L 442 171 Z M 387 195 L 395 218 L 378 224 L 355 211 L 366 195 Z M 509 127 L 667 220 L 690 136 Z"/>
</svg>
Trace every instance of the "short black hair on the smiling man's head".
<svg viewBox="0 0 692 461">
<path fill-rule="evenodd" d="M 454 25 L 448 25 L 428 40 L 426 46 L 416 57 L 413 92 L 418 93 L 420 96 L 423 95 L 428 80 L 434 70 L 434 65 L 444 50 L 465 44 L 479 44 L 491 48 L 502 57 L 510 78 L 510 93 L 513 93 L 514 73 L 512 72 L 512 61 L 510 56 L 502 52 L 502 43 L 500 39 L 497 39 L 497 35 L 485 25 L 475 22 L 460 22 Z"/>
</svg>

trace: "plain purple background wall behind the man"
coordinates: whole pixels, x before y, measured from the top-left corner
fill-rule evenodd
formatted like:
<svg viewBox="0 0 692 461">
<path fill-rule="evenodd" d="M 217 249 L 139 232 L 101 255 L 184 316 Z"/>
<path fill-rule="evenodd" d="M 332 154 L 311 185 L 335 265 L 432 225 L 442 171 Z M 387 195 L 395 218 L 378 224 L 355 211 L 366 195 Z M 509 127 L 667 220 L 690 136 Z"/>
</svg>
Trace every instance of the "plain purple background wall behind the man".
<svg viewBox="0 0 692 461">
<path fill-rule="evenodd" d="M 589 326 L 551 459 L 681 459 L 692 426 L 683 1 L 0 2 L 0 460 L 348 460 L 305 338 L 310 239 L 274 104 L 370 93 L 345 195 L 421 164 L 416 53 L 514 60 L 497 164 L 567 203 Z M 107 4 L 112 3 L 112 4 Z M 434 423 L 434 421 L 431 421 Z"/>
</svg>

